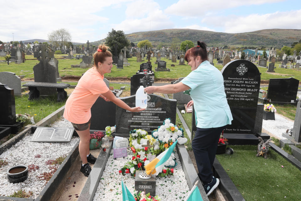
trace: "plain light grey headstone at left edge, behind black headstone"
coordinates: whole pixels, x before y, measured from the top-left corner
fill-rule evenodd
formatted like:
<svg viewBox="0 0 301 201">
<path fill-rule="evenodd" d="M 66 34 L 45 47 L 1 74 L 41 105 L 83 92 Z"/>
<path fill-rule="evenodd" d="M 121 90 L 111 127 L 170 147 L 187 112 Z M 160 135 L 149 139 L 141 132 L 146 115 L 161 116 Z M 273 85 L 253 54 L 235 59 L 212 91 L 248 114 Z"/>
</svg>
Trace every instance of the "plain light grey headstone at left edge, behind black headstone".
<svg viewBox="0 0 301 201">
<path fill-rule="evenodd" d="M 21 95 L 21 78 L 13 72 L 0 72 L 0 82 L 13 89 L 13 93 Z"/>
</svg>

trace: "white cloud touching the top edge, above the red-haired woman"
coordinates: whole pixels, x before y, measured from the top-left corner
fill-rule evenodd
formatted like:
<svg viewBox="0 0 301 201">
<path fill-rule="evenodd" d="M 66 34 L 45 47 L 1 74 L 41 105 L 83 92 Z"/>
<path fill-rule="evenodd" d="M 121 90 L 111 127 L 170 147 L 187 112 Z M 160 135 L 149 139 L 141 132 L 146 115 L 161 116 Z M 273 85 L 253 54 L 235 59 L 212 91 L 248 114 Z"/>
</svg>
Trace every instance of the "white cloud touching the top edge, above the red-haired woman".
<svg viewBox="0 0 301 201">
<path fill-rule="evenodd" d="M 227 8 L 235 8 L 247 5 L 259 5 L 264 3 L 274 3 L 284 0 L 214 0 L 214 1 L 200 1 L 200 0 L 179 0 L 177 3 L 165 9 L 165 13 L 184 17 L 205 16 L 209 11 L 224 10 Z"/>
</svg>

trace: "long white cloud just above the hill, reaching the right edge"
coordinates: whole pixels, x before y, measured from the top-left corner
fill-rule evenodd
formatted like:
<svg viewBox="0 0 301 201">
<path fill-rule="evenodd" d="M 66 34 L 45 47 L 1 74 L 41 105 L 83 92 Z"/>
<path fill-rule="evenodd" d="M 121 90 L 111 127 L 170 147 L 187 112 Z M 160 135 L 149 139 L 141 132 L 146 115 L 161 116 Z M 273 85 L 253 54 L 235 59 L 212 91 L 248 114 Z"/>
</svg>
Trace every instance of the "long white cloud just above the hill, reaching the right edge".
<svg viewBox="0 0 301 201">
<path fill-rule="evenodd" d="M 221 26 L 226 33 L 243 33 L 261 29 L 301 29 L 300 19 L 301 10 L 294 10 L 248 16 L 208 17 L 202 22 L 210 21 L 214 26 Z"/>
</svg>

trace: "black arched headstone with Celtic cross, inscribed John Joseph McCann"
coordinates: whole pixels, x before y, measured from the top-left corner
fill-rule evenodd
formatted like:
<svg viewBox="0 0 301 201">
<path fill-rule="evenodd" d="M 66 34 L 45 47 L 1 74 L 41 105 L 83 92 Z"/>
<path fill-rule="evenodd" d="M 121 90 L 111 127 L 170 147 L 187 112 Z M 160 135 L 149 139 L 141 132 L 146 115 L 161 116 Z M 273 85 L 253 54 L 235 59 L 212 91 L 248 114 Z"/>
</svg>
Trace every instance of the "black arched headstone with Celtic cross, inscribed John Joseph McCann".
<svg viewBox="0 0 301 201">
<path fill-rule="evenodd" d="M 260 87 L 260 72 L 250 61 L 234 60 L 223 67 L 224 89 L 233 121 L 225 133 L 253 134 Z"/>
</svg>

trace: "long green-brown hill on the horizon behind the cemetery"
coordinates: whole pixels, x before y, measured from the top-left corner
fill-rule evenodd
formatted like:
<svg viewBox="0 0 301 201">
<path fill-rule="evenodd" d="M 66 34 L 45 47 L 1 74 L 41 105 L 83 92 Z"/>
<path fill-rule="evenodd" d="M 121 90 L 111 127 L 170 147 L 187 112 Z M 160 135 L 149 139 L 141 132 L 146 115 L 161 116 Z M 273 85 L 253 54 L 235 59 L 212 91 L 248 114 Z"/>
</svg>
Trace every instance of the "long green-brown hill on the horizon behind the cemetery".
<svg viewBox="0 0 301 201">
<path fill-rule="evenodd" d="M 173 38 L 181 41 L 191 40 L 195 44 L 198 40 L 204 41 L 208 46 L 253 46 L 253 47 L 277 47 L 283 45 L 291 46 L 293 42 L 301 39 L 301 29 L 263 29 L 252 32 L 228 34 L 214 31 L 203 31 L 196 29 L 163 29 L 157 31 L 144 31 L 125 34 L 131 42 L 137 43 L 141 40 L 149 40 L 156 46 L 164 43 L 170 46 Z M 91 42 L 92 45 L 99 45 L 105 39 Z"/>
</svg>

